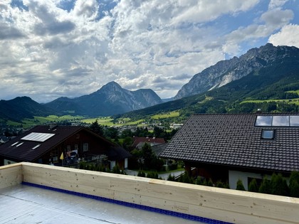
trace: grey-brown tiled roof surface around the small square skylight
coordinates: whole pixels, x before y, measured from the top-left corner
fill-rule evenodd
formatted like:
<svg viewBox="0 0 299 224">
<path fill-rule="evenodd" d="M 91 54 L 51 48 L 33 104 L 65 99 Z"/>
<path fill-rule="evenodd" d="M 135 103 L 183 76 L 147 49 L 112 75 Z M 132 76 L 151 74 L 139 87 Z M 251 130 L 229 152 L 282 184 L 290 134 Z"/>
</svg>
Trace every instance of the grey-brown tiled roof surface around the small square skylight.
<svg viewBox="0 0 299 224">
<path fill-rule="evenodd" d="M 258 115 L 290 114 L 194 114 L 159 156 L 250 169 L 299 170 L 299 127 L 256 127 Z M 261 139 L 263 129 L 274 129 L 275 138 Z"/>
</svg>

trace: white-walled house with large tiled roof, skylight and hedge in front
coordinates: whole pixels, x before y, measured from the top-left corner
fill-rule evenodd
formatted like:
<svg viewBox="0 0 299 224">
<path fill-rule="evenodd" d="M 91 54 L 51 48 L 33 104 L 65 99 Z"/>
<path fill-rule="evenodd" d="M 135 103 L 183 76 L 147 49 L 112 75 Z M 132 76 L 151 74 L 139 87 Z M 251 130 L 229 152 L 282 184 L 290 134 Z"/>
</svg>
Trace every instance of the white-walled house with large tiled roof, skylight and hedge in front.
<svg viewBox="0 0 299 224">
<path fill-rule="evenodd" d="M 299 114 L 194 114 L 159 156 L 247 189 L 252 178 L 299 170 Z"/>
</svg>

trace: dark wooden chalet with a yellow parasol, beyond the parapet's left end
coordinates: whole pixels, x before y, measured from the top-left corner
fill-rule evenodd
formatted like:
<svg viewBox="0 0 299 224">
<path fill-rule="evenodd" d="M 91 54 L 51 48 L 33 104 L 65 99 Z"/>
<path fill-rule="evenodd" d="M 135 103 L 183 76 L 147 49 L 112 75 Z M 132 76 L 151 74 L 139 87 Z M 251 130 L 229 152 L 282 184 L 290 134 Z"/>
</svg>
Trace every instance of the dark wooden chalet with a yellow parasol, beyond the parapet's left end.
<svg viewBox="0 0 299 224">
<path fill-rule="evenodd" d="M 118 164 L 127 168 L 130 153 L 79 126 L 38 125 L 0 146 L 0 165 L 29 161 L 61 165 L 78 158 L 85 160 L 107 157 L 110 169 Z"/>
</svg>

